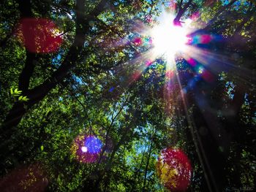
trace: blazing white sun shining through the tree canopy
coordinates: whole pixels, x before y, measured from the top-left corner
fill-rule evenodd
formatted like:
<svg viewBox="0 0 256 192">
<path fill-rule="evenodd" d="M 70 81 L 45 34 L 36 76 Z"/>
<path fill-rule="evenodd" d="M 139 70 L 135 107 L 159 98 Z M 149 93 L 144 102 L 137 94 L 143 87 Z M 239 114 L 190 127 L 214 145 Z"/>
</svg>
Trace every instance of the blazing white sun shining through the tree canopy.
<svg viewBox="0 0 256 192">
<path fill-rule="evenodd" d="M 165 14 L 151 30 L 154 53 L 164 56 L 167 61 L 173 61 L 177 53 L 185 52 L 189 40 L 187 28 L 174 26 L 173 19 L 172 15 Z"/>
</svg>

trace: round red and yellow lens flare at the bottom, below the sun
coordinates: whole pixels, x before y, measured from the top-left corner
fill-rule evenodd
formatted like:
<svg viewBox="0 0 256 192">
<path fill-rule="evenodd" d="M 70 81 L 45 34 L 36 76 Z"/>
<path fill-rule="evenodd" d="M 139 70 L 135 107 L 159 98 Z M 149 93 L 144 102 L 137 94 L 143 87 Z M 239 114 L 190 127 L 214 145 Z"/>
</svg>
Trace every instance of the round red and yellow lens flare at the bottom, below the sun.
<svg viewBox="0 0 256 192">
<path fill-rule="evenodd" d="M 157 161 L 157 174 L 170 191 L 186 191 L 189 186 L 192 166 L 182 150 L 162 150 Z"/>
</svg>

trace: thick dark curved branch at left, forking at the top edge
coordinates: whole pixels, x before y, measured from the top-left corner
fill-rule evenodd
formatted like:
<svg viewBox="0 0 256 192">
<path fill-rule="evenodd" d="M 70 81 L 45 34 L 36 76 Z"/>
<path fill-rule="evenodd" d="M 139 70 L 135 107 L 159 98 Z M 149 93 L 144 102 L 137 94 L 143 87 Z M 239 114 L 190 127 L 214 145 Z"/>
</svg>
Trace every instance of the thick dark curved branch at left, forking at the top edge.
<svg viewBox="0 0 256 192">
<path fill-rule="evenodd" d="M 28 0 L 29 1 L 29 0 Z M 34 104 L 42 100 L 51 89 L 56 87 L 56 85 L 61 82 L 71 69 L 73 69 L 78 61 L 80 61 L 80 52 L 83 50 L 83 45 L 86 39 L 86 33 L 89 31 L 89 21 L 97 17 L 100 12 L 105 9 L 106 1 L 102 0 L 99 4 L 90 12 L 89 15 L 85 15 L 86 7 L 83 0 L 77 0 L 76 4 L 76 30 L 75 30 L 75 40 L 72 46 L 67 53 L 66 58 L 62 62 L 59 69 L 53 73 L 53 75 L 48 79 L 45 80 L 41 85 L 26 91 L 26 96 L 28 96 L 29 101 L 26 103 L 19 102 L 18 104 L 14 104 L 12 110 L 10 110 L 7 118 L 4 120 L 4 127 L 12 127 L 17 126 L 20 122 L 21 118 L 25 114 L 26 110 L 24 109 L 23 104 L 27 105 L 27 109 L 31 108 Z M 33 67 L 32 67 L 33 68 Z M 30 67 L 31 69 L 31 67 Z M 31 74 L 32 72 L 30 72 Z M 24 82 L 22 88 L 28 86 L 29 80 Z"/>
</svg>

